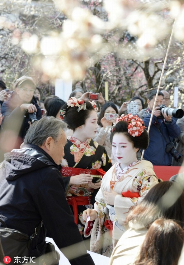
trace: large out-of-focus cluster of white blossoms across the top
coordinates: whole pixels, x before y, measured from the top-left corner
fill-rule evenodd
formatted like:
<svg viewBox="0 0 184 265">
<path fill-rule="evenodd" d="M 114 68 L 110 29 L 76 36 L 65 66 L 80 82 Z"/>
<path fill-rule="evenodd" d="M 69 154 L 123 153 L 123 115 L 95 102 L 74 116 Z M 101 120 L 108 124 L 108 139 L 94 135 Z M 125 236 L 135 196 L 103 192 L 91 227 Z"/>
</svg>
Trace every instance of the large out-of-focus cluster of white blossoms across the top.
<svg viewBox="0 0 184 265">
<path fill-rule="evenodd" d="M 135 55 L 134 59 L 148 59 L 153 53 L 159 53 L 155 47 L 169 38 L 175 17 L 174 36 L 179 41 L 184 39 L 181 1 L 104 0 L 108 21 L 83 8 L 82 1 L 54 2 L 67 17 L 61 32 L 50 31 L 39 39 L 27 32 L 20 37 L 20 32 L 14 31 L 12 37 L 13 44 L 20 42 L 24 51 L 35 54 L 35 68 L 52 79 L 83 79 L 87 67 L 111 51 L 122 58 Z M 113 30 L 118 30 L 118 34 L 127 31 L 135 37 L 134 43 L 119 45 L 116 38 L 108 43 L 104 41 L 103 35 Z"/>
</svg>

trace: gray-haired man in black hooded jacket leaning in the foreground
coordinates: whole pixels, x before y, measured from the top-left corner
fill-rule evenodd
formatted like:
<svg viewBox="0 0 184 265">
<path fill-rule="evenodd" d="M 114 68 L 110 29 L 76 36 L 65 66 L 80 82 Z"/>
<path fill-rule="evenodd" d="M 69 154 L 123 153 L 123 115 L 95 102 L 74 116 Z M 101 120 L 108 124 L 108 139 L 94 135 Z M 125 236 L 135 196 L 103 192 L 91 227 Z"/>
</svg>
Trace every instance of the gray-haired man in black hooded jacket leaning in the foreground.
<svg viewBox="0 0 184 265">
<path fill-rule="evenodd" d="M 25 145 L 5 154 L 0 169 L 0 219 L 7 228 L 29 236 L 43 220 L 30 245 L 30 257 L 45 252 L 47 230 L 72 265 L 94 265 L 74 223 L 59 171 L 65 129 L 59 118 L 41 118 L 29 128 Z"/>
</svg>

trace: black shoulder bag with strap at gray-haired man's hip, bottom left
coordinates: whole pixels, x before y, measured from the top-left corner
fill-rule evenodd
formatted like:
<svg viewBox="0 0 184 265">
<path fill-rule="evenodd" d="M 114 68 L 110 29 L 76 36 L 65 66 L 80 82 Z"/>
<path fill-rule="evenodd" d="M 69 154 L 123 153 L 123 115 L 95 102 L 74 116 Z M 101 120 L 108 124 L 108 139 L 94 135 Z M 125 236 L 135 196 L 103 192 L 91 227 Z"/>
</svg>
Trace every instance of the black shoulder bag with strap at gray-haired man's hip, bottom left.
<svg viewBox="0 0 184 265">
<path fill-rule="evenodd" d="M 43 225 L 41 222 L 36 228 L 35 233 L 28 236 L 16 229 L 7 228 L 6 224 L 0 219 L 4 227 L 0 227 L 0 240 L 5 256 L 9 257 L 29 257 L 29 246 L 33 238 L 39 233 Z"/>
</svg>

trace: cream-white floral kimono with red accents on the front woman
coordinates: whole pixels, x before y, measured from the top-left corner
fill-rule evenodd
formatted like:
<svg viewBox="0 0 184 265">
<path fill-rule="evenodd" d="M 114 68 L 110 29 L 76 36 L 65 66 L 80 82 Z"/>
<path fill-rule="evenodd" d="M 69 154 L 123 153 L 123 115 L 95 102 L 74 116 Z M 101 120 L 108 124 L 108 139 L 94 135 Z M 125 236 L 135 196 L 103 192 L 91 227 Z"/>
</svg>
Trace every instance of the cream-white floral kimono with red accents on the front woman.
<svg viewBox="0 0 184 265">
<path fill-rule="evenodd" d="M 94 210 L 97 211 L 98 216 L 95 221 L 87 222 L 84 229 L 85 237 L 91 234 L 90 250 L 92 252 L 111 256 L 117 241 L 126 230 L 123 225 L 126 216 L 157 183 L 158 179 L 152 163 L 145 160 L 133 162 L 123 170 L 117 162 L 106 172 L 95 197 Z M 110 188 L 118 193 L 114 205 L 107 205 L 103 196 L 104 191 L 110 192 Z M 122 193 L 128 191 L 136 193 L 139 197 L 134 195 L 133 198 L 124 197 Z"/>
</svg>

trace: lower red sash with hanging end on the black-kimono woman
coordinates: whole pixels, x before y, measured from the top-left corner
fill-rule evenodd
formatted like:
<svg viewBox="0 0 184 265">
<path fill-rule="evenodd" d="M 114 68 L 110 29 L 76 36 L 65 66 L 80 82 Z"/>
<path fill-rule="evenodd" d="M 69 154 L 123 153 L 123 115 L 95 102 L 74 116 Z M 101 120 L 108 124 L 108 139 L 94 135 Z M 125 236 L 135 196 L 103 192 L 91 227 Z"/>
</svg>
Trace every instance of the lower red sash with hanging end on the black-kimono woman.
<svg viewBox="0 0 184 265">
<path fill-rule="evenodd" d="M 80 197 L 66 197 L 68 204 L 72 205 L 73 207 L 73 214 L 74 214 L 74 219 L 75 223 L 78 224 L 78 209 L 77 205 L 88 205 L 90 204 L 89 197 L 87 196 L 80 196 Z"/>
</svg>

